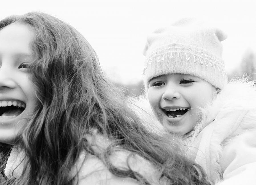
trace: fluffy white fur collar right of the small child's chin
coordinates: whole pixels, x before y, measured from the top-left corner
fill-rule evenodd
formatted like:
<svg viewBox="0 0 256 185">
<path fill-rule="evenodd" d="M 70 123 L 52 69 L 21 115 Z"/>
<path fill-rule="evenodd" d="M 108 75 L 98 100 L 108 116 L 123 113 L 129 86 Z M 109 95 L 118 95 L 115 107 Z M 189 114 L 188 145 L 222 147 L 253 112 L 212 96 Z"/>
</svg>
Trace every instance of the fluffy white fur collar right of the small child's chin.
<svg viewBox="0 0 256 185">
<path fill-rule="evenodd" d="M 232 80 L 227 83 L 222 91 L 214 98 L 211 104 L 202 110 L 202 120 L 194 128 L 193 138 L 195 138 L 203 128 L 213 120 L 223 118 L 225 114 L 233 111 L 253 110 L 256 108 L 256 87 L 254 81 L 247 79 Z M 194 140 L 194 139 L 192 139 Z"/>
</svg>

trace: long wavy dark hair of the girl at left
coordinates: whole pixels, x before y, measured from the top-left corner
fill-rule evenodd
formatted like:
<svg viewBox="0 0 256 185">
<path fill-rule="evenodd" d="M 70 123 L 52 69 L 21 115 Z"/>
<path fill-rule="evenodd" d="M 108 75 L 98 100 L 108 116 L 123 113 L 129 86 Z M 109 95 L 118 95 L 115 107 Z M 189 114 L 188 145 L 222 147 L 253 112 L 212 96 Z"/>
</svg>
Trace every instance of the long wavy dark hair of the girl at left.
<svg viewBox="0 0 256 185">
<path fill-rule="evenodd" d="M 76 29 L 45 13 L 31 12 L 3 19 L 0 30 L 12 23 L 34 30 L 29 73 L 38 104 L 16 139 L 26 154 L 23 173 L 6 184 L 72 184 L 70 170 L 84 150 L 99 157 L 114 175 L 150 184 L 131 168 L 111 163 L 109 156 L 117 147 L 149 160 L 160 173 L 159 184 L 162 179 L 170 184 L 207 183 L 200 166 L 186 159 L 174 140 L 143 126 L 123 94 L 105 79 L 96 53 Z M 100 154 L 85 137 L 92 130 L 111 141 Z M 8 152 L 2 152 L 4 157 L 3 153 Z"/>
</svg>

